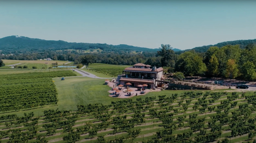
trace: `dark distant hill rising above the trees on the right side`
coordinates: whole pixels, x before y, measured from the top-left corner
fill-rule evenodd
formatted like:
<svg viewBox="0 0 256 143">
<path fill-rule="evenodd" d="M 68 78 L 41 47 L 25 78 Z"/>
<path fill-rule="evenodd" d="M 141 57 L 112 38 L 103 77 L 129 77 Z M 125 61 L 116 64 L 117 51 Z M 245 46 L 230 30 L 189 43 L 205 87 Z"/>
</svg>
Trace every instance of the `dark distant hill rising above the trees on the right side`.
<svg viewBox="0 0 256 143">
<path fill-rule="evenodd" d="M 208 46 L 202 46 L 202 47 L 195 47 L 193 49 L 187 49 L 187 50 L 184 50 L 184 51 L 190 51 L 190 50 L 195 50 L 196 52 L 199 52 L 199 53 L 203 53 L 203 52 L 206 52 L 210 47 L 212 46 L 217 46 L 217 47 L 223 47 L 225 45 L 237 45 L 239 44 L 240 45 L 240 48 L 245 48 L 248 44 L 250 43 L 256 43 L 256 39 L 254 40 L 235 40 L 235 41 L 226 41 L 226 42 L 221 42 L 221 43 L 218 43 L 218 44 L 215 44 L 215 45 L 208 45 Z"/>
</svg>

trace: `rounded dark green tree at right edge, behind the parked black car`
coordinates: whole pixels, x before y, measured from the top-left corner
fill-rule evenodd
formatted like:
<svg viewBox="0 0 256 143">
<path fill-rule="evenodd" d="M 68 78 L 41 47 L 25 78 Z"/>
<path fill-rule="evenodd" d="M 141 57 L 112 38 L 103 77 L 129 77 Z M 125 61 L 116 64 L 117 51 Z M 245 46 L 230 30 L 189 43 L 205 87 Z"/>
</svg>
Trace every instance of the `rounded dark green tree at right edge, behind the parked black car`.
<svg viewBox="0 0 256 143">
<path fill-rule="evenodd" d="M 243 77 L 246 80 L 254 80 L 254 79 L 256 79 L 256 72 L 255 72 L 254 68 L 255 68 L 255 66 L 254 66 L 253 62 L 246 61 L 243 64 L 242 74 L 243 74 Z"/>
</svg>

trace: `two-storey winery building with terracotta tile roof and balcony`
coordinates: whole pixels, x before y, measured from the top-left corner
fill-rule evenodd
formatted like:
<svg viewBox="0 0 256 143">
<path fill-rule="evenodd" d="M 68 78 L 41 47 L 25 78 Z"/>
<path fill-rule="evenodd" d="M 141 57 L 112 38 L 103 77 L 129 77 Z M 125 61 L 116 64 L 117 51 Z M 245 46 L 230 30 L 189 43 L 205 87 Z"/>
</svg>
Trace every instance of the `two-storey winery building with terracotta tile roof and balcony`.
<svg viewBox="0 0 256 143">
<path fill-rule="evenodd" d="M 131 83 L 132 87 L 137 87 L 138 85 L 146 84 L 148 88 L 153 88 L 156 86 L 156 80 L 161 80 L 162 75 L 163 68 L 138 63 L 132 67 L 125 68 L 119 80 L 122 85 Z"/>
</svg>

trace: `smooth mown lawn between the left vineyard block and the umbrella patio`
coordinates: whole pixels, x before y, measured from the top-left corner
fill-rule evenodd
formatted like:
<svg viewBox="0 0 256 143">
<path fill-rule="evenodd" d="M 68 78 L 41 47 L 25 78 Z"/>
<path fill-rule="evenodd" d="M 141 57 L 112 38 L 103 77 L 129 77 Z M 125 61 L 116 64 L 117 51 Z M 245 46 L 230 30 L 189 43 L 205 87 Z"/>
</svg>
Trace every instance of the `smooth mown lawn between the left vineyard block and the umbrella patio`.
<svg viewBox="0 0 256 143">
<path fill-rule="evenodd" d="M 107 92 L 111 88 L 102 85 L 105 79 L 92 79 L 88 77 L 70 77 L 61 81 L 54 79 L 58 92 L 57 106 L 60 110 L 76 110 L 76 105 L 102 103 L 125 99 L 109 97 Z"/>
</svg>

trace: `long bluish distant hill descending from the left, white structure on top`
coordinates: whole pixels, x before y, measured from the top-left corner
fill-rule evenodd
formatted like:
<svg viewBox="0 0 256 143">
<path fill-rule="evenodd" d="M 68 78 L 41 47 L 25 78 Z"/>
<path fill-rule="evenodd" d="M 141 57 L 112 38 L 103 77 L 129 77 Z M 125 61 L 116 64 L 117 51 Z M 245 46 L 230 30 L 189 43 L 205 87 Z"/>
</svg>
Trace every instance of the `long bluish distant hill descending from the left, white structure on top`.
<svg viewBox="0 0 256 143">
<path fill-rule="evenodd" d="M 100 43 L 70 43 L 62 40 L 42 40 L 23 36 L 8 36 L 0 39 L 0 50 L 5 51 L 37 51 L 43 52 L 49 50 L 92 50 L 101 49 L 103 51 L 139 51 L 139 52 L 157 52 L 160 49 L 150 49 L 143 47 L 135 47 L 125 44 L 108 45 Z M 178 50 L 179 49 L 174 49 Z"/>
</svg>

